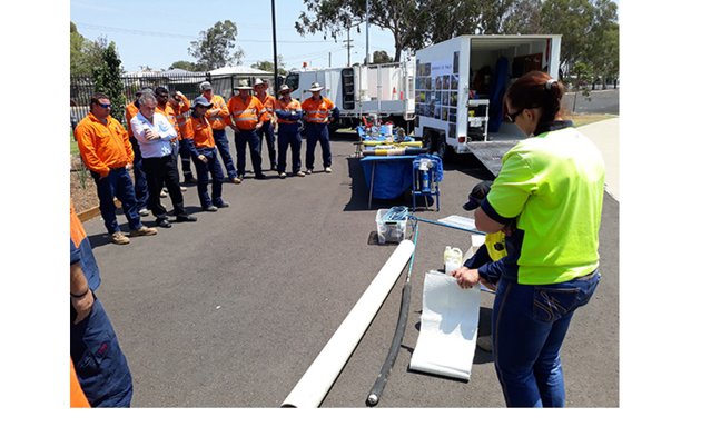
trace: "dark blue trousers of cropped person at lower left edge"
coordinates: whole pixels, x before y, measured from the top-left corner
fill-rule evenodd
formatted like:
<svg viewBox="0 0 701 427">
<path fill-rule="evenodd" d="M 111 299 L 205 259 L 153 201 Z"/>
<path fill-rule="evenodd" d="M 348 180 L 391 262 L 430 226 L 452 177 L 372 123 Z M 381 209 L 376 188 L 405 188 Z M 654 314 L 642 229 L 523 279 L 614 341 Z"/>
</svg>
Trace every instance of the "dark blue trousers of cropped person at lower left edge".
<svg viewBox="0 0 701 427">
<path fill-rule="evenodd" d="M 95 294 L 93 294 L 95 295 Z M 129 407 L 134 393 L 127 358 L 97 297 L 88 317 L 73 325 L 70 306 L 70 357 L 82 391 L 92 407 Z"/>
</svg>

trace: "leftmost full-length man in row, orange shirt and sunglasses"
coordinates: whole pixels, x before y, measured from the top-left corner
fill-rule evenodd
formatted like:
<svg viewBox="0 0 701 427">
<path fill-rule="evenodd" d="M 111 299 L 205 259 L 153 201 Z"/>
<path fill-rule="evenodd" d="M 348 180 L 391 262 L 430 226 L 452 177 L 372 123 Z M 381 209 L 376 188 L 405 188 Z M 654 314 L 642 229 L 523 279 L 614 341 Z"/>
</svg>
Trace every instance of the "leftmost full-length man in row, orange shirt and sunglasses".
<svg viewBox="0 0 701 427">
<path fill-rule="evenodd" d="M 76 140 L 82 161 L 90 169 L 100 199 L 100 214 L 111 240 L 126 245 L 129 238 L 121 232 L 117 222 L 115 197 L 121 202 L 129 221 L 131 237 L 152 236 L 158 231 L 145 227 L 138 214 L 134 183 L 129 168 L 134 162 L 134 151 L 127 130 L 110 116 L 112 103 L 105 93 L 90 98 L 90 112 L 76 127 Z"/>
</svg>

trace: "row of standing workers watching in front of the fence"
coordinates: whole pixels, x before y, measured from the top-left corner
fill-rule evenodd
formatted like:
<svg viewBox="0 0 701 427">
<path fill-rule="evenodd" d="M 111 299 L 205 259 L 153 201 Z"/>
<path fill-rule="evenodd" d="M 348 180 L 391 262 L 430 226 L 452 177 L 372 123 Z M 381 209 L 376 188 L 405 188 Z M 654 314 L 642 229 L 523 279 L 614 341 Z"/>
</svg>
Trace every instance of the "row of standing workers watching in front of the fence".
<svg viewBox="0 0 701 427">
<path fill-rule="evenodd" d="M 146 227 L 140 220 L 149 210 L 156 217 L 156 225 L 162 228 L 171 227 L 169 215 L 178 222 L 197 220 L 184 207 L 186 188 L 179 182 L 178 157 L 185 182 L 197 183 L 201 210 L 209 212 L 229 206 L 221 198 L 225 180 L 240 185 L 246 179 L 246 148 L 250 152 L 254 177 L 266 179 L 261 157 L 264 138 L 270 169 L 277 171 L 280 179 L 287 177 L 288 148 L 292 175 L 312 175 L 317 142 L 322 147 L 323 170 L 332 172 L 328 125 L 338 120 L 339 111 L 330 99 L 322 96 L 324 87 L 319 83 L 312 85 L 308 89 L 312 97 L 304 102 L 293 99 L 286 85 L 280 87 L 278 98 L 273 97 L 268 93 L 268 82 L 261 79 L 256 79 L 253 87 L 248 80 L 241 80 L 228 102 L 214 93 L 208 81 L 201 82 L 199 89 L 200 96 L 190 101 L 180 91 L 170 92 L 165 87 L 142 88 L 127 106 L 127 129 L 110 116 L 112 106 L 107 95 L 91 97 L 90 112 L 78 123 L 75 136 L 82 160 L 96 181 L 100 214 L 112 242 L 126 245 L 129 237 L 156 235 L 156 228 Z M 307 139 L 304 171 L 302 121 Z M 227 127 L 235 132 L 236 166 Z M 217 155 L 224 162 L 226 178 Z M 168 196 L 172 211 L 160 202 L 160 198 Z M 121 202 L 128 219 L 129 236 L 117 221 L 115 198 Z"/>
</svg>

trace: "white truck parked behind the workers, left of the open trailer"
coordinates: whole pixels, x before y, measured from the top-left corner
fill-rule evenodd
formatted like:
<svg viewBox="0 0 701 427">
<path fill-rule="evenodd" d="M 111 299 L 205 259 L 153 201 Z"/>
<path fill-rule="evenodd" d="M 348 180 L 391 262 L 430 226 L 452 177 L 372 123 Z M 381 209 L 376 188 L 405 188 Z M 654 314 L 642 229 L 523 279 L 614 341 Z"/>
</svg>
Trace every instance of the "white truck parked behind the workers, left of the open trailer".
<svg viewBox="0 0 701 427">
<path fill-rule="evenodd" d="M 411 59 L 405 62 L 304 69 L 289 72 L 285 85 L 292 89 L 292 97 L 299 101 L 312 96 L 308 89 L 313 82 L 322 85 L 322 95 L 329 98 L 340 112 L 339 121 L 333 125 L 335 129 L 355 128 L 367 115 L 405 127 L 414 120 L 414 66 L 415 61 Z"/>
</svg>

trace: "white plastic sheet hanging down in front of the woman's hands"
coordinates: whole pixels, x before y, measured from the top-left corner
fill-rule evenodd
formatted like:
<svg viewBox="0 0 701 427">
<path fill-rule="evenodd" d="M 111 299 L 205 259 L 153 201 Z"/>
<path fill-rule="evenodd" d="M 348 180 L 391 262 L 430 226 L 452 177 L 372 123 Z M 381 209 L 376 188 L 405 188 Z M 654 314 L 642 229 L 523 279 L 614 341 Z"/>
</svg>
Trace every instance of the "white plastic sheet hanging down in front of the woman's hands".
<svg viewBox="0 0 701 427">
<path fill-rule="evenodd" d="M 480 287 L 462 289 L 454 277 L 424 277 L 421 332 L 409 369 L 470 380 L 480 321 Z"/>
</svg>

